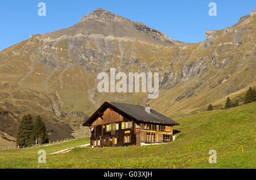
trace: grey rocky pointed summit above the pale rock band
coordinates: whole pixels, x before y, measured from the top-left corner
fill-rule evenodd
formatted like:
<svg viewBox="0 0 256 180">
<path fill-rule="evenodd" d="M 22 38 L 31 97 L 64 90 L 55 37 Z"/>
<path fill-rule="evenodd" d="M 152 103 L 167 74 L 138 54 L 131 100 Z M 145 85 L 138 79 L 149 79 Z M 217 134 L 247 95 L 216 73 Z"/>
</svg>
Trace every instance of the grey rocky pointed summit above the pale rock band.
<svg viewBox="0 0 256 180">
<path fill-rule="evenodd" d="M 164 33 L 147 27 L 141 22 L 134 22 L 130 19 L 116 15 L 113 12 L 97 8 L 88 15 L 81 18 L 80 22 L 71 28 L 64 29 L 60 33 L 51 33 L 51 36 L 61 36 L 63 34 L 69 36 L 83 35 L 103 35 L 105 37 L 124 37 L 133 38 L 150 44 L 158 44 L 164 46 L 172 46 L 183 42 L 177 42 L 164 35 Z"/>
</svg>

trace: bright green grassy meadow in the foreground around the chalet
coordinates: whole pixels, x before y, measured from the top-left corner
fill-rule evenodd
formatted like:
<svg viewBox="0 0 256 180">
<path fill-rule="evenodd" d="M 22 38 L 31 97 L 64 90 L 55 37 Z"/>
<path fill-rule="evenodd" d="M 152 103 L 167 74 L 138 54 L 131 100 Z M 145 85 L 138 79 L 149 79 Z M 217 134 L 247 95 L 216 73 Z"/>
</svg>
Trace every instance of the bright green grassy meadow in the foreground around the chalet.
<svg viewBox="0 0 256 180">
<path fill-rule="evenodd" d="M 38 164 L 35 149 L 0 151 L 0 168 L 256 168 L 256 102 L 175 119 L 181 131 L 174 142 L 144 147 L 75 148 L 49 155 L 89 139 L 44 147 L 47 164 Z M 242 146 L 242 147 L 241 147 Z M 217 163 L 208 162 L 210 149 Z"/>
</svg>

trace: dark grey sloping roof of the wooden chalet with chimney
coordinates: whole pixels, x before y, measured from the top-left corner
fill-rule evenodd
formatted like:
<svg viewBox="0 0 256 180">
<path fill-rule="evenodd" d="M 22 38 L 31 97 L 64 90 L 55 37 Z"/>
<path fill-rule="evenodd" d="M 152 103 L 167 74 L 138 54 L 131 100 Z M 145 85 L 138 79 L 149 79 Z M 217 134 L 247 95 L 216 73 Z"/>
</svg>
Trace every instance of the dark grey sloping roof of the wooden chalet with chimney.
<svg viewBox="0 0 256 180">
<path fill-rule="evenodd" d="M 172 123 L 173 125 L 180 125 L 173 119 L 170 119 L 165 115 L 156 112 L 153 109 L 150 110 L 150 113 L 147 113 L 145 111 L 144 106 L 125 104 L 120 102 L 109 102 L 109 104 L 112 104 L 116 108 L 122 110 L 123 112 L 141 121 L 153 121 L 153 122 L 162 122 L 162 123 Z"/>
</svg>

